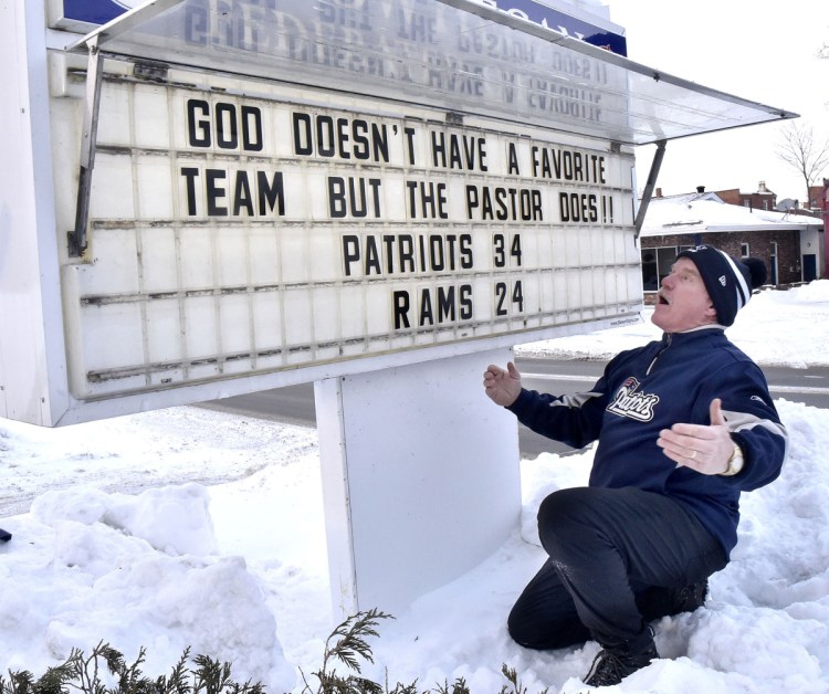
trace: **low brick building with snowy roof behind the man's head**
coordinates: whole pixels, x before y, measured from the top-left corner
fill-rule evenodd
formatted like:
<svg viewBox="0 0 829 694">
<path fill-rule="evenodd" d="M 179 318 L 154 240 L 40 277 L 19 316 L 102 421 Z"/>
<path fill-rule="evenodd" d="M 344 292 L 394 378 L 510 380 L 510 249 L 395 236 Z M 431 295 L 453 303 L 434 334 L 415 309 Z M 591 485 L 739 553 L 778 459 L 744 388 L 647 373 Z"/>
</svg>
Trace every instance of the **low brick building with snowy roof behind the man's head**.
<svg viewBox="0 0 829 694">
<path fill-rule="evenodd" d="M 759 257 L 766 263 L 767 283 L 773 285 L 808 282 L 823 269 L 822 219 L 728 204 L 718 192 L 704 189 L 671 197 L 658 190 L 639 241 L 646 303 L 655 298 L 676 253 L 705 243 L 735 257 Z"/>
</svg>

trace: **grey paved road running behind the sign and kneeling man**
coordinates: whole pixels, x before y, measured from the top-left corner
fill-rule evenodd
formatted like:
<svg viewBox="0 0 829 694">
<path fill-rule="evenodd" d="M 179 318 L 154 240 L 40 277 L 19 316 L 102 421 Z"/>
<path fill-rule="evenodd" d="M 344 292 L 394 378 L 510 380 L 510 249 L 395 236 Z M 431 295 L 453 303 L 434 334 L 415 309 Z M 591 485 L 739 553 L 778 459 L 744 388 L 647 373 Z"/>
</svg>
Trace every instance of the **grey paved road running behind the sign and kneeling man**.
<svg viewBox="0 0 829 694">
<path fill-rule="evenodd" d="M 527 388 L 556 395 L 570 395 L 589 388 L 605 368 L 602 361 L 545 358 L 516 359 L 516 365 Z M 764 371 L 774 398 L 785 398 L 793 402 L 829 409 L 829 368 L 767 367 Z M 214 400 L 202 403 L 202 407 L 303 427 L 316 425 L 313 383 Z M 573 452 L 566 445 L 539 437 L 523 425 L 520 427 L 518 441 L 523 458 L 532 459 L 545 452 L 562 454 Z"/>
</svg>

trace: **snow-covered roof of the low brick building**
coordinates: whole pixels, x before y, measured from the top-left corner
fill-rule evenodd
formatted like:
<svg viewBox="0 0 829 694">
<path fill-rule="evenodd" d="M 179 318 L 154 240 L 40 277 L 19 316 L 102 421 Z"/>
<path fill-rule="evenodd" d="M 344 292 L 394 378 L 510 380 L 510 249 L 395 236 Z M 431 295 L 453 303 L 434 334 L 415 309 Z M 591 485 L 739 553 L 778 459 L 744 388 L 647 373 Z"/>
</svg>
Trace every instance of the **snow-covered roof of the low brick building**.
<svg viewBox="0 0 829 694">
<path fill-rule="evenodd" d="M 714 193 L 688 193 L 671 198 L 653 198 L 642 224 L 642 236 L 711 233 L 728 231 L 805 231 L 821 229 L 821 219 L 752 210 L 727 204 Z"/>
</svg>

